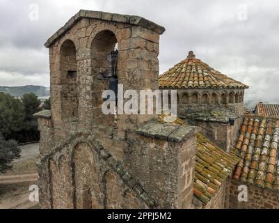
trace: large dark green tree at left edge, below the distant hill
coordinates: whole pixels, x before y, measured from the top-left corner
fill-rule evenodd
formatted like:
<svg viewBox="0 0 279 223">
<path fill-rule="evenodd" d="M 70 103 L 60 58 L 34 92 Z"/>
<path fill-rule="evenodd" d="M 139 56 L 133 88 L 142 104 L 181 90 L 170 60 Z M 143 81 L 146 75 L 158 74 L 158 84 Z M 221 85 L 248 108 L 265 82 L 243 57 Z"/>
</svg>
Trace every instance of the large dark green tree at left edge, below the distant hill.
<svg viewBox="0 0 279 223">
<path fill-rule="evenodd" d="M 22 130 L 24 107 L 19 99 L 0 93 L 0 132 L 8 139 L 13 132 Z"/>
</svg>

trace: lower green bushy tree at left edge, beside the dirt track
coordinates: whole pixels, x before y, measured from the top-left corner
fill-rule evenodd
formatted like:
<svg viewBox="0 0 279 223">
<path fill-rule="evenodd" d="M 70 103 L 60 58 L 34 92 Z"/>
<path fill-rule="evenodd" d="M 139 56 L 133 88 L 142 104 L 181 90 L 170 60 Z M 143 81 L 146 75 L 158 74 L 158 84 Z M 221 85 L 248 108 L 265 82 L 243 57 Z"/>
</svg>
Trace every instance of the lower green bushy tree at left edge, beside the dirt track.
<svg viewBox="0 0 279 223">
<path fill-rule="evenodd" d="M 0 173 L 12 167 L 12 161 L 20 157 L 21 149 L 17 141 L 5 140 L 0 134 Z"/>
</svg>

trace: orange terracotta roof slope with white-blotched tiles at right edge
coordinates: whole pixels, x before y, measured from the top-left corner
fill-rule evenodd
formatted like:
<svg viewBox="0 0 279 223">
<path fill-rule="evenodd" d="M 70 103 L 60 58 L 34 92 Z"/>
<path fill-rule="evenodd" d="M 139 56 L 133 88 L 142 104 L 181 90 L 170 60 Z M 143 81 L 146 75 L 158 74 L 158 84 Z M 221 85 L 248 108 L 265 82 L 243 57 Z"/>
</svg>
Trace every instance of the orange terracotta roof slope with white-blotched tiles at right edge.
<svg viewBox="0 0 279 223">
<path fill-rule="evenodd" d="M 248 132 L 249 125 L 253 128 L 252 133 Z M 278 141 L 279 119 L 244 116 L 235 146 L 239 150 L 241 160 L 233 178 L 253 183 L 258 187 L 279 190 Z"/>
</svg>

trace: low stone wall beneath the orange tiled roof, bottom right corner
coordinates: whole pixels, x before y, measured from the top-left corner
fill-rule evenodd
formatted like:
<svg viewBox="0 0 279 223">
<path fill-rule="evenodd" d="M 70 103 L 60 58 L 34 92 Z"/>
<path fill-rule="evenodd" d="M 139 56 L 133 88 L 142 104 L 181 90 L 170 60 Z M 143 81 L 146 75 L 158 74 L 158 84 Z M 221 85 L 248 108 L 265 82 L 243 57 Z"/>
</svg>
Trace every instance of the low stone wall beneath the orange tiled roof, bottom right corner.
<svg viewBox="0 0 279 223">
<path fill-rule="evenodd" d="M 247 185 L 248 187 L 248 201 L 239 201 L 237 188 L 239 185 Z M 279 208 L 279 194 L 264 188 L 257 187 L 250 183 L 230 179 L 229 200 L 226 203 L 227 208 L 233 209 L 266 209 L 266 208 Z"/>
</svg>

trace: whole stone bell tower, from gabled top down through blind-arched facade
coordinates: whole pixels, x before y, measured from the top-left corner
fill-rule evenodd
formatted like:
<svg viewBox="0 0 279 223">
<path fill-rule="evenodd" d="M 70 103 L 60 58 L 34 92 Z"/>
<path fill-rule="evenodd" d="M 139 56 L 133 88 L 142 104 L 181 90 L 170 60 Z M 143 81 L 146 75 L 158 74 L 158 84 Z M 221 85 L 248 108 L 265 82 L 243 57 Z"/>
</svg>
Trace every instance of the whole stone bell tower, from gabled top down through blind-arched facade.
<svg viewBox="0 0 279 223">
<path fill-rule="evenodd" d="M 115 79 L 121 91 L 159 89 L 163 32 L 143 17 L 80 10 L 47 40 L 51 111 L 36 114 L 42 208 L 191 206 L 198 129 L 102 112 Z"/>
</svg>

